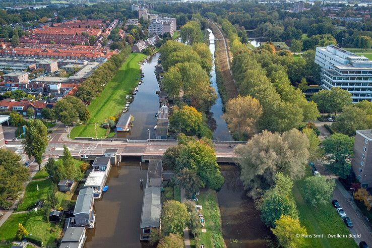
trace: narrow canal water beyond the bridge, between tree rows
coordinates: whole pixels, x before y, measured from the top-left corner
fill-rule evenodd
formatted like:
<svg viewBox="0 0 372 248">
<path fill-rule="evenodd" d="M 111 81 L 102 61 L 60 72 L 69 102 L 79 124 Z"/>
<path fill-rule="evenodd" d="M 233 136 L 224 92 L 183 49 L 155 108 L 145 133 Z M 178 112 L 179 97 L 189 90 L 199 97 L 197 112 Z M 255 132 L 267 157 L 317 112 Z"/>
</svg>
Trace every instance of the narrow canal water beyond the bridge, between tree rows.
<svg viewBox="0 0 372 248">
<path fill-rule="evenodd" d="M 217 88 L 217 79 L 216 79 L 216 67 L 214 64 L 214 51 L 215 51 L 215 41 L 214 41 L 214 34 L 212 30 L 207 29 L 209 32 L 209 50 L 212 53 L 213 63 L 212 63 L 212 71 L 211 71 L 211 86 L 217 93 L 217 100 L 216 103 L 211 107 L 211 119 L 212 123 L 212 131 L 213 131 L 213 140 L 232 140 L 226 125 L 225 119 L 222 117 L 223 114 L 223 103 L 221 99 L 221 95 L 218 92 Z"/>
</svg>

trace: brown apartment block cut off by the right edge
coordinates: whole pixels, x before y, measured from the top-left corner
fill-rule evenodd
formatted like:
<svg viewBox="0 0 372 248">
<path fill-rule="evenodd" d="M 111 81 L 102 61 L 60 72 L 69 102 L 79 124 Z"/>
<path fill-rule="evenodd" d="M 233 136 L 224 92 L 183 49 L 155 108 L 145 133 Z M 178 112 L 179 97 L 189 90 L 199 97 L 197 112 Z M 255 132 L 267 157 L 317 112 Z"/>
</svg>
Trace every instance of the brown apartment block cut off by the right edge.
<svg viewBox="0 0 372 248">
<path fill-rule="evenodd" d="M 355 135 L 351 166 L 361 187 L 372 187 L 372 130 L 358 130 Z"/>
</svg>

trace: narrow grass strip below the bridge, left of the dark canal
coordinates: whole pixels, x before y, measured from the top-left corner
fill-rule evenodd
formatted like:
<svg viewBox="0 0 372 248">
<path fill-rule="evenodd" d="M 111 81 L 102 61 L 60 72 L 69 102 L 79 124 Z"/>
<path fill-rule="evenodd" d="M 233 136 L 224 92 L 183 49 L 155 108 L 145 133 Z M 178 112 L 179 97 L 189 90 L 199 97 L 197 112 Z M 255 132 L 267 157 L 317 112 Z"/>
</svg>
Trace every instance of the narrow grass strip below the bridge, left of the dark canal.
<svg viewBox="0 0 372 248">
<path fill-rule="evenodd" d="M 217 193 L 214 190 L 202 190 L 198 196 L 198 204 L 202 205 L 201 210 L 207 232 L 202 232 L 200 240 L 196 243 L 196 247 L 204 244 L 205 247 L 223 247 L 224 240 L 222 237 L 221 213 L 218 207 Z M 219 245 L 215 245 L 218 243 Z"/>
</svg>

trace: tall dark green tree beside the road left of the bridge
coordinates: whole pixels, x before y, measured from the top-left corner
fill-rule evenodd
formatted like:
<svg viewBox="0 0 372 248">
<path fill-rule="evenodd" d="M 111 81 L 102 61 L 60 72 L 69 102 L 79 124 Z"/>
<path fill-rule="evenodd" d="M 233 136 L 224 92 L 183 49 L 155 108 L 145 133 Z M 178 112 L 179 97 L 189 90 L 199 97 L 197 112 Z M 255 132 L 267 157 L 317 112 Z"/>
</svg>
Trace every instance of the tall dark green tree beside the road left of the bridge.
<svg viewBox="0 0 372 248">
<path fill-rule="evenodd" d="M 22 145 L 25 149 L 26 154 L 30 157 L 34 157 L 37 164 L 40 165 L 42 162 L 43 153 L 48 146 L 48 129 L 44 123 L 39 119 L 29 119 L 25 130 L 25 139 L 22 140 Z"/>
</svg>

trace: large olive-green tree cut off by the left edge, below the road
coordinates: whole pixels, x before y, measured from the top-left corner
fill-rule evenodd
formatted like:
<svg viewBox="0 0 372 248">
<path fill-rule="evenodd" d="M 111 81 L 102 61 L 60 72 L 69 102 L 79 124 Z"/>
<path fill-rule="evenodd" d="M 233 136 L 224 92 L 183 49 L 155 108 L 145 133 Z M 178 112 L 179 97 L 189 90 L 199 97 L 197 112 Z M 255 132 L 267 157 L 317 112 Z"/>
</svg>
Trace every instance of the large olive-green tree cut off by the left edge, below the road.
<svg viewBox="0 0 372 248">
<path fill-rule="evenodd" d="M 0 206 L 8 209 L 24 189 L 29 178 L 27 168 L 20 163 L 21 157 L 12 151 L 0 149 Z"/>
</svg>

